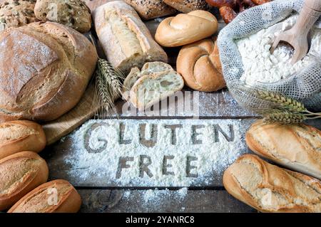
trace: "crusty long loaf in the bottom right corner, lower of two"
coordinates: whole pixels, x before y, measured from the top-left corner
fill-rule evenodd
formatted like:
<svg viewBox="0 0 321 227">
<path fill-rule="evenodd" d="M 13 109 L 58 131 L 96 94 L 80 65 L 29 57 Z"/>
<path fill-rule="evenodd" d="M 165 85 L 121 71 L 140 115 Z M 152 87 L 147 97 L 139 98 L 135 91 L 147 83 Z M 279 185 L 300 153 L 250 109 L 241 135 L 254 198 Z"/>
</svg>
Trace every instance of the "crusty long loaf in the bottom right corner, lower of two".
<svg viewBox="0 0 321 227">
<path fill-rule="evenodd" d="M 223 175 L 225 189 L 262 212 L 321 212 L 321 182 L 282 169 L 252 154 L 240 157 Z"/>
</svg>

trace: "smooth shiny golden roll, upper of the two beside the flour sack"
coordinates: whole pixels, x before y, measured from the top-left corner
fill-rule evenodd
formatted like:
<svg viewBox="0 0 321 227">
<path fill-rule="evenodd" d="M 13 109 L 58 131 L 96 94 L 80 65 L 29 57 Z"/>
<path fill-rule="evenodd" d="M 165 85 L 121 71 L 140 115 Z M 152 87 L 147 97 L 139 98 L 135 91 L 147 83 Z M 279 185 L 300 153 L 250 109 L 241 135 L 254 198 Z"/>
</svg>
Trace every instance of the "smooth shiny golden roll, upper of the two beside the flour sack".
<svg viewBox="0 0 321 227">
<path fill-rule="evenodd" d="M 183 46 L 212 36 L 218 31 L 218 20 L 208 11 L 196 10 L 163 20 L 156 30 L 156 41 L 162 46 Z"/>
</svg>

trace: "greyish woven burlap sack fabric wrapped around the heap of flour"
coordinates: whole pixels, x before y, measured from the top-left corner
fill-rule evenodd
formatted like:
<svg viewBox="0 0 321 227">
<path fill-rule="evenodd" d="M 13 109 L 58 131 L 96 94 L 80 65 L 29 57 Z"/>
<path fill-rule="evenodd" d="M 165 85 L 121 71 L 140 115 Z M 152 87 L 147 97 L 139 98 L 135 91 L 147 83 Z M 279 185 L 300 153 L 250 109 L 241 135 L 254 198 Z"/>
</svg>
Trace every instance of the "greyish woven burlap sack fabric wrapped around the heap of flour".
<svg viewBox="0 0 321 227">
<path fill-rule="evenodd" d="M 228 24 L 218 36 L 220 60 L 228 88 L 235 99 L 245 107 L 268 108 L 269 102 L 260 100 L 250 93 L 244 93 L 240 88 L 243 82 L 243 63 L 235 44 L 235 40 L 245 38 L 253 33 L 268 28 L 302 9 L 303 0 L 276 0 L 244 11 Z M 320 25 L 320 20 L 317 22 Z M 316 26 L 317 26 L 316 24 Z M 315 62 L 290 78 L 277 83 L 259 85 L 282 95 L 300 100 L 311 110 L 321 111 L 321 56 L 316 56 Z"/>
</svg>

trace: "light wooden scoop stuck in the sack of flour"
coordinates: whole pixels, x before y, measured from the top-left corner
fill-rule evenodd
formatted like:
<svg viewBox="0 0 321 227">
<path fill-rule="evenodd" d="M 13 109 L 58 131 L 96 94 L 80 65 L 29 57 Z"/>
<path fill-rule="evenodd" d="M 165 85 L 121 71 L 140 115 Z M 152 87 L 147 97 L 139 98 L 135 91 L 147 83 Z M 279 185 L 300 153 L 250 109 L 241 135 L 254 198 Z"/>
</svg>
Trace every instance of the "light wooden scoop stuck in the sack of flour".
<svg viewBox="0 0 321 227">
<path fill-rule="evenodd" d="M 285 42 L 289 43 L 295 50 L 291 60 L 292 65 L 304 58 L 309 51 L 307 35 L 320 16 L 321 0 L 305 0 L 295 26 L 276 37 L 270 50 L 271 53 L 275 51 L 280 42 Z"/>
</svg>

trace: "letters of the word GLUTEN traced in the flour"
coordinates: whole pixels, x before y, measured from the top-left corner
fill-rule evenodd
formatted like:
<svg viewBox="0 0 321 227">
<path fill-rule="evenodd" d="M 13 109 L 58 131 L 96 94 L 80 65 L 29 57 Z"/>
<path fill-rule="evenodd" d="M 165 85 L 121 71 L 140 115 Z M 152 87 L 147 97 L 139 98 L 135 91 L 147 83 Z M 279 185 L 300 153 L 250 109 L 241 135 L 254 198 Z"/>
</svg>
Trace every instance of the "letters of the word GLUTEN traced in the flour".
<svg viewBox="0 0 321 227">
<path fill-rule="evenodd" d="M 93 130 L 96 130 L 98 127 L 108 126 L 108 123 L 96 123 L 91 125 L 89 130 L 86 132 L 85 135 L 85 148 L 89 153 L 101 153 L 103 152 L 107 147 L 107 139 L 99 139 L 100 142 L 103 142 L 103 145 L 98 149 L 92 149 L 89 146 L 89 139 L 91 138 L 91 133 Z M 185 125 L 184 125 L 185 126 Z M 164 125 L 163 127 L 166 130 L 170 130 L 170 144 L 176 145 L 178 142 L 177 134 L 178 130 L 180 130 L 183 125 Z M 186 127 L 186 126 L 185 126 Z M 205 125 L 188 125 L 191 130 L 191 137 L 185 138 L 190 139 L 191 144 L 203 144 L 203 140 L 200 138 L 202 133 L 199 132 L 200 129 L 204 128 Z M 210 136 L 213 137 L 214 142 L 220 142 L 220 134 L 225 138 L 227 142 L 233 142 L 235 139 L 235 132 L 233 125 L 228 125 L 228 132 L 225 132 L 222 127 L 220 127 L 219 124 L 211 125 L 213 127 L 213 134 Z M 146 137 L 146 124 L 142 123 L 139 124 L 139 143 L 143 145 L 144 147 L 152 148 L 155 147 L 158 142 L 158 125 L 151 124 L 151 132 L 149 137 Z M 118 143 L 119 144 L 131 144 L 133 142 L 133 139 L 131 138 L 125 138 L 125 132 L 126 132 L 126 125 L 122 122 L 119 124 L 119 130 L 118 132 Z M 148 139 L 146 139 L 148 138 Z"/>
</svg>

